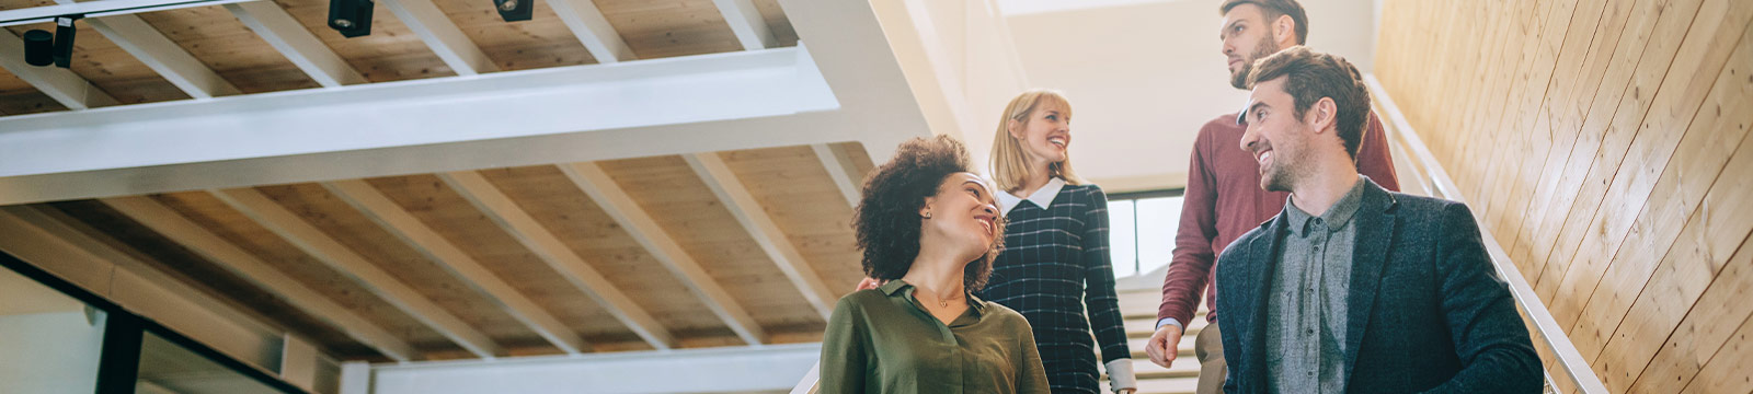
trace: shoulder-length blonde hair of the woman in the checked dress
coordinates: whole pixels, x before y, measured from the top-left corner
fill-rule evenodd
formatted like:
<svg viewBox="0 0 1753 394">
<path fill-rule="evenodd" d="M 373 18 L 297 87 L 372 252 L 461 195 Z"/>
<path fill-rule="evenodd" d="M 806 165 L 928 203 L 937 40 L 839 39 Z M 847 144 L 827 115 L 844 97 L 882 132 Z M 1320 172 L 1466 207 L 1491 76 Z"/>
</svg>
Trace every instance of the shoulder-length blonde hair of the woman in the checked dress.
<svg viewBox="0 0 1753 394">
<path fill-rule="evenodd" d="M 1004 105 L 1004 114 L 997 119 L 997 135 L 992 137 L 992 182 L 997 189 L 1004 193 L 1015 193 L 1022 189 L 1022 184 L 1029 179 L 1029 154 L 1022 151 L 1022 142 L 1010 135 L 1010 123 L 1017 121 L 1024 126 L 1029 124 L 1029 114 L 1034 114 L 1036 107 L 1041 103 L 1059 103 L 1066 107 L 1066 121 L 1071 119 L 1071 100 L 1054 89 L 1029 89 Z M 1083 184 L 1083 179 L 1071 172 L 1071 152 L 1066 152 L 1066 159 L 1052 163 L 1047 166 L 1048 177 L 1057 177 L 1066 180 L 1066 184 Z"/>
</svg>

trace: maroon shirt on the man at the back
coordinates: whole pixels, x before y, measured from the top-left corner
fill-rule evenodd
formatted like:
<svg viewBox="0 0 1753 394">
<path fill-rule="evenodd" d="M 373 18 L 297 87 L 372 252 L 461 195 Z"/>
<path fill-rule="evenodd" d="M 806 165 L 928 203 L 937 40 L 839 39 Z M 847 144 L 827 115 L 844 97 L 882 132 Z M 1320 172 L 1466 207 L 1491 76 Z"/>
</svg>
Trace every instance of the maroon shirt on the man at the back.
<svg viewBox="0 0 1753 394">
<path fill-rule="evenodd" d="M 1285 208 L 1290 193 L 1260 189 L 1260 163 L 1253 161 L 1253 154 L 1241 151 L 1243 131 L 1243 126 L 1236 124 L 1236 114 L 1218 116 L 1199 128 L 1192 163 L 1187 166 L 1182 228 L 1175 235 L 1169 275 L 1162 280 L 1157 320 L 1173 317 L 1185 327 L 1199 308 L 1201 294 L 1206 298 L 1206 306 L 1217 310 L 1213 294 L 1217 287 L 1210 285 L 1217 273 L 1211 270 L 1217 256 L 1243 233 Z M 1357 149 L 1357 168 L 1385 189 L 1401 189 L 1376 112 L 1369 112 L 1369 130 L 1364 131 L 1364 144 Z M 1217 313 L 1206 319 L 1215 322 Z"/>
</svg>

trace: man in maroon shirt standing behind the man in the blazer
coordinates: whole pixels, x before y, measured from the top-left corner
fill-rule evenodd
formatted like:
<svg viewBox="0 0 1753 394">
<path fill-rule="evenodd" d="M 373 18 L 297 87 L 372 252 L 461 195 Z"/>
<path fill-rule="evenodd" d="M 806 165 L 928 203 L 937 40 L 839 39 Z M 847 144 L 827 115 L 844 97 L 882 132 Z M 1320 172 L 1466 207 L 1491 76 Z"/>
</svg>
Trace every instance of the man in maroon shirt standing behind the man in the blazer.
<svg viewBox="0 0 1753 394">
<path fill-rule="evenodd" d="M 1229 60 L 1231 84 L 1245 89 L 1255 60 L 1280 49 L 1301 46 L 1308 39 L 1308 16 L 1295 0 L 1225 0 L 1220 37 Z M 1167 368 L 1175 361 L 1182 333 L 1194 319 L 1201 296 L 1215 310 L 1211 275 L 1217 256 L 1248 229 L 1271 219 L 1285 207 L 1287 193 L 1260 189 L 1260 163 L 1241 151 L 1245 128 L 1236 124 L 1236 114 L 1224 114 L 1199 128 L 1194 140 L 1192 163 L 1187 168 L 1187 193 L 1182 201 L 1182 224 L 1175 235 L 1175 257 L 1162 282 L 1162 306 L 1157 310 L 1157 333 L 1145 345 L 1150 361 Z M 1369 114 L 1357 152 L 1357 168 L 1381 187 L 1399 191 L 1394 161 L 1381 121 Z M 1194 341 L 1199 357 L 1197 392 L 1218 392 L 1224 387 L 1224 348 L 1217 313 Z"/>
</svg>

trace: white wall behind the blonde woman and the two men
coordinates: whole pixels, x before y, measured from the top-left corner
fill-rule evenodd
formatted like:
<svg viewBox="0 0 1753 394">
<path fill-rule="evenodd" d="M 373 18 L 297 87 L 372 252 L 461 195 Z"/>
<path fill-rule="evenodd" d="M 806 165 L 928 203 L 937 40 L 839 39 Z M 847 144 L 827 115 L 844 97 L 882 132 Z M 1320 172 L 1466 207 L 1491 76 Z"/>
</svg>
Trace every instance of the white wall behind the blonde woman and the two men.
<svg viewBox="0 0 1753 394">
<path fill-rule="evenodd" d="M 1199 126 L 1246 100 L 1224 68 L 1217 0 L 999 4 L 1029 84 L 1073 102 L 1071 156 L 1080 175 L 1110 191 L 1182 186 Z M 1311 47 L 1371 70 L 1374 0 L 1302 0 L 1302 7 Z M 968 137 L 982 158 L 1003 105 L 975 105 L 990 112 L 975 117 L 978 133 Z"/>
</svg>

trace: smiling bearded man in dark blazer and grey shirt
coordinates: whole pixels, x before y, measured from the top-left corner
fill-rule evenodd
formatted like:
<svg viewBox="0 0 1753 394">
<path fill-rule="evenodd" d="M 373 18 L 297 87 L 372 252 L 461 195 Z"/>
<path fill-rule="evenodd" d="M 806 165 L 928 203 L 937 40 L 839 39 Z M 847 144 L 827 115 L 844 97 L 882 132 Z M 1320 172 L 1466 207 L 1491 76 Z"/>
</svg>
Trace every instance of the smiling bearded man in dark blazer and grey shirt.
<svg viewBox="0 0 1753 394">
<path fill-rule="evenodd" d="M 1357 68 L 1306 47 L 1253 68 L 1241 149 L 1290 201 L 1218 257 L 1225 392 L 1539 392 L 1467 207 L 1357 175 Z"/>
</svg>

